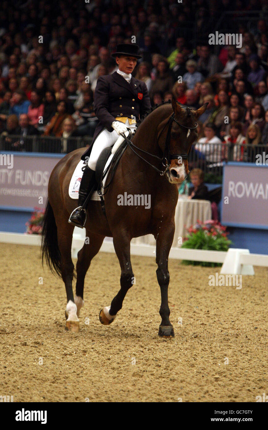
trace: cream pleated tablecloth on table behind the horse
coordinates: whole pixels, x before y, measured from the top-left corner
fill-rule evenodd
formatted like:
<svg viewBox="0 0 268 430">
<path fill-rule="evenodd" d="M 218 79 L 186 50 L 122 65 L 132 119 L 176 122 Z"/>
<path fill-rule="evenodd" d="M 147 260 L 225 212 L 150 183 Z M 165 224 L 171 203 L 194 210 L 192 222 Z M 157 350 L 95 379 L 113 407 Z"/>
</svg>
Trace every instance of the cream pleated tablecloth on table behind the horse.
<svg viewBox="0 0 268 430">
<path fill-rule="evenodd" d="M 179 248 L 182 246 L 182 240 L 187 234 L 186 228 L 195 224 L 197 220 L 206 221 L 211 219 L 211 203 L 208 200 L 196 199 L 178 199 L 175 211 L 175 233 L 172 246 Z M 146 245 L 155 245 L 156 241 L 152 234 L 136 237 L 131 243 L 144 243 Z"/>
</svg>

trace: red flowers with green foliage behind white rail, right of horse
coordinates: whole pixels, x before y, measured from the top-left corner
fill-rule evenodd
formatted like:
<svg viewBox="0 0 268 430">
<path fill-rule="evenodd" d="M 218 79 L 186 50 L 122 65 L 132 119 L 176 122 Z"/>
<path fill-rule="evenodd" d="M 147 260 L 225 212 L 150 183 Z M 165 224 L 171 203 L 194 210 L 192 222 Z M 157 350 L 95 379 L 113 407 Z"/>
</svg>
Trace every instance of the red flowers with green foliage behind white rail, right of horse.
<svg viewBox="0 0 268 430">
<path fill-rule="evenodd" d="M 197 221 L 197 224 L 187 229 L 188 235 L 185 238 L 182 248 L 206 249 L 211 251 L 227 251 L 231 245 L 231 240 L 227 239 L 228 233 L 226 227 L 219 221 L 209 219 L 204 223 Z M 221 263 L 211 263 L 209 261 L 189 261 L 183 260 L 183 264 L 192 264 L 194 266 L 221 266 Z"/>
</svg>

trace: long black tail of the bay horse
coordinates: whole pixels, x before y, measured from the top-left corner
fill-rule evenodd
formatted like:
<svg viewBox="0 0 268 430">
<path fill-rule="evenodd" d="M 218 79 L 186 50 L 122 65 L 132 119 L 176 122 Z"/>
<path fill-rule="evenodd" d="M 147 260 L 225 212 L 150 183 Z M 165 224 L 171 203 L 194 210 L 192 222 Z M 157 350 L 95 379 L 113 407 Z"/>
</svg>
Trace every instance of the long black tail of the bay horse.
<svg viewBox="0 0 268 430">
<path fill-rule="evenodd" d="M 46 203 L 46 211 L 42 223 L 42 235 L 42 264 L 44 264 L 44 260 L 46 260 L 46 264 L 52 273 L 61 276 L 61 253 L 58 244 L 57 225 L 49 200 L 47 200 Z"/>
</svg>

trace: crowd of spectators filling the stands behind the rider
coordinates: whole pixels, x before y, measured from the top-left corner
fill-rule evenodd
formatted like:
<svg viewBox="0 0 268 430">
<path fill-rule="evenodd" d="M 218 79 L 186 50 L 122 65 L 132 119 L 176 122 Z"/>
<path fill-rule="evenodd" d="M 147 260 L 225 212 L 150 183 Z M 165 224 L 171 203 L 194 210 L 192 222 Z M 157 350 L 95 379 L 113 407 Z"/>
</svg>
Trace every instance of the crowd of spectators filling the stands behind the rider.
<svg viewBox="0 0 268 430">
<path fill-rule="evenodd" d="M 268 0 L 61 0 L 2 1 L 0 10 L 0 133 L 63 137 L 92 136 L 97 118 L 94 91 L 99 76 L 117 65 L 118 43 L 140 46 L 133 76 L 148 87 L 151 104 L 173 96 L 198 109 L 195 151 L 206 160 L 244 160 L 243 145 L 268 145 L 268 28 L 259 18 L 242 24 L 242 45 L 221 46 L 208 34 L 223 12 L 268 9 Z M 193 28 L 196 40 L 193 40 Z M 23 142 L 23 141 L 22 141 Z M 23 145 L 23 143 L 22 143 Z M 16 142 L 15 146 L 19 146 Z M 256 152 L 256 151 L 255 151 Z M 230 151 L 228 152 L 228 154 Z M 253 155 L 246 152 L 246 160 Z"/>
</svg>

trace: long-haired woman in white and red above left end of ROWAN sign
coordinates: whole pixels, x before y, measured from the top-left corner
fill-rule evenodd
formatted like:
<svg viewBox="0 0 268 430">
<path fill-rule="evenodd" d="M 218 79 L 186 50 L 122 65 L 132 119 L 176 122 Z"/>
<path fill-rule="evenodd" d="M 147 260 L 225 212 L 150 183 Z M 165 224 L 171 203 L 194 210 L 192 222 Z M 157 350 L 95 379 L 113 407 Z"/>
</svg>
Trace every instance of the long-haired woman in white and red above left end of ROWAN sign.
<svg viewBox="0 0 268 430">
<path fill-rule="evenodd" d="M 242 161 L 246 138 L 242 134 L 242 123 L 232 121 L 228 135 L 224 136 L 226 147 L 223 158 L 228 161 Z"/>
</svg>

